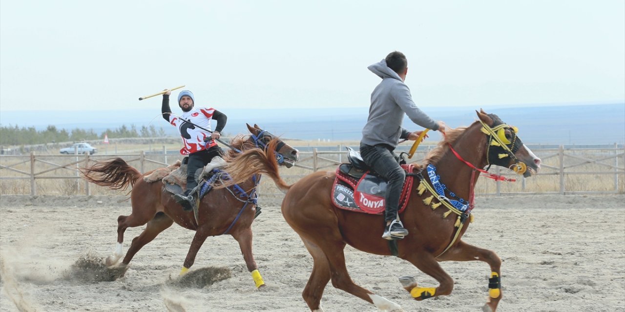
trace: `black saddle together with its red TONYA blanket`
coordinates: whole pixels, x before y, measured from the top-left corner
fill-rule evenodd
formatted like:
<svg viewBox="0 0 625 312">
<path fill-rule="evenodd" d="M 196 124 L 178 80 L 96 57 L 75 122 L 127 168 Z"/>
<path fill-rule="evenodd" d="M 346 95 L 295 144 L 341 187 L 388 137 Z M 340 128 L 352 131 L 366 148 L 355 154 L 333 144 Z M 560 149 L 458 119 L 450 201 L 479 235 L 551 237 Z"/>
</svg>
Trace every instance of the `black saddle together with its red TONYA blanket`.
<svg viewBox="0 0 625 312">
<path fill-rule="evenodd" d="M 386 208 L 386 181 L 372 171 L 358 152 L 347 147 L 349 163 L 342 163 L 336 169 L 332 185 L 332 203 L 344 210 L 379 215 Z M 414 172 L 414 165 L 401 164 L 407 173 Z M 414 182 L 413 175 L 406 175 L 406 181 L 399 198 L 399 212 L 407 205 Z"/>
</svg>

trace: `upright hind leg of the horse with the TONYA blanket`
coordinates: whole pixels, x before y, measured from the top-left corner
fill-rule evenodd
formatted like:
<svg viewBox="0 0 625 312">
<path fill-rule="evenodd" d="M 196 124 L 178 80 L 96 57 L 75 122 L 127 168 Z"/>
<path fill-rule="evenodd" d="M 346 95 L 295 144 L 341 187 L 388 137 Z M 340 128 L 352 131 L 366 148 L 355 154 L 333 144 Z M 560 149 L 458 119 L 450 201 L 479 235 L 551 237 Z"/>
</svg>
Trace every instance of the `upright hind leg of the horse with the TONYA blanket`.
<svg viewBox="0 0 625 312">
<path fill-rule="evenodd" d="M 326 288 L 327 282 L 330 281 L 330 263 L 327 261 L 326 254 L 321 248 L 312 241 L 302 237 L 306 249 L 312 256 L 312 272 L 306 283 L 306 288 L 302 292 L 302 297 L 312 311 L 322 312 L 321 297 Z"/>
</svg>

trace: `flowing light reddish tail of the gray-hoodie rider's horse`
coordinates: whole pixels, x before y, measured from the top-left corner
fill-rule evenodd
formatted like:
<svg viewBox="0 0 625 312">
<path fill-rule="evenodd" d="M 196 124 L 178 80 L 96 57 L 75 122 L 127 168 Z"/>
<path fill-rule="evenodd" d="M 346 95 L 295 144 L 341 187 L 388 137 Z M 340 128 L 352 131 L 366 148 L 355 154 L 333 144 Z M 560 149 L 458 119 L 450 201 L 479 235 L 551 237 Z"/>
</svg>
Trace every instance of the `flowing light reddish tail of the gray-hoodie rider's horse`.
<svg viewBox="0 0 625 312">
<path fill-rule="evenodd" d="M 278 143 L 278 139 L 273 139 L 267 144 L 265 150 L 255 148 L 227 155 L 227 165 L 223 169 L 230 178 L 222 181 L 222 184 L 217 185 L 216 188 L 226 188 L 245 182 L 252 175 L 262 174 L 269 176 L 276 183 L 276 186 L 286 193 L 291 188 L 291 185 L 287 185 L 280 177 L 280 165 L 277 163 L 276 155 L 274 154 Z"/>
</svg>

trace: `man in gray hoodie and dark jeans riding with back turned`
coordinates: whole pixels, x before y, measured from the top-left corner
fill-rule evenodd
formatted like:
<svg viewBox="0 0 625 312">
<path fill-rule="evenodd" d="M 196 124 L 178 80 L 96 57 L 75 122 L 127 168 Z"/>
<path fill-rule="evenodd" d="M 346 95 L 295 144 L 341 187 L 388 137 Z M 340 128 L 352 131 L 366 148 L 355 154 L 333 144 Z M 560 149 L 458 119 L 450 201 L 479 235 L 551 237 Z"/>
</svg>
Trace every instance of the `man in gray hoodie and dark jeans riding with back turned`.
<svg viewBox="0 0 625 312">
<path fill-rule="evenodd" d="M 399 139 L 416 140 L 421 134 L 421 131 L 409 132 L 401 127 L 404 114 L 415 124 L 431 130 L 443 132 L 445 124 L 432 120 L 412 101 L 410 89 L 404 84 L 408 71 L 404 54 L 391 52 L 386 59 L 367 68 L 382 78 L 382 82 L 371 93 L 369 118 L 362 129 L 360 153 L 364 162 L 388 182 L 384 217 L 386 228 L 382 238 L 401 239 L 408 234 L 397 214 L 406 172 L 399 166 L 392 151 Z"/>
</svg>

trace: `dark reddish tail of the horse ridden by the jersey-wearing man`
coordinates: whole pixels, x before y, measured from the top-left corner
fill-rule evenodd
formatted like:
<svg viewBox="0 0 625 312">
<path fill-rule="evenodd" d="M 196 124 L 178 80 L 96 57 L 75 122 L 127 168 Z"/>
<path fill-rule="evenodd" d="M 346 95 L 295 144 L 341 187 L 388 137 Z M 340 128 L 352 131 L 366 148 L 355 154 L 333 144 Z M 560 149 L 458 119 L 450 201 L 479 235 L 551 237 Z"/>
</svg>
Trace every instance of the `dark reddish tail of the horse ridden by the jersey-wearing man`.
<svg viewBox="0 0 625 312">
<path fill-rule="evenodd" d="M 109 187 L 111 190 L 126 190 L 128 185 L 134 185 L 134 182 L 143 176 L 122 158 L 97 162 L 91 167 L 81 168 L 80 171 L 89 182 Z"/>
</svg>

